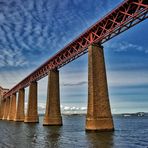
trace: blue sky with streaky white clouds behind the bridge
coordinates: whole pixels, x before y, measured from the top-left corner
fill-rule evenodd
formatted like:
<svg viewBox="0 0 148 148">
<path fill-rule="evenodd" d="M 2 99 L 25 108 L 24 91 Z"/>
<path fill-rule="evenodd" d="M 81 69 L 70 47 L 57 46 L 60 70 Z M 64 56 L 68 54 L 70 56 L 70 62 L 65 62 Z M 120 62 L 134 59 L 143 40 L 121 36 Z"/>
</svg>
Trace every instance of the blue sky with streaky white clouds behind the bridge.
<svg viewBox="0 0 148 148">
<path fill-rule="evenodd" d="M 17 84 L 120 2 L 0 0 L 0 85 Z M 103 45 L 113 113 L 148 112 L 147 26 L 145 20 Z M 40 110 L 46 87 L 44 78 Z M 62 109 L 86 109 L 87 54 L 60 69 L 60 89 Z"/>
</svg>

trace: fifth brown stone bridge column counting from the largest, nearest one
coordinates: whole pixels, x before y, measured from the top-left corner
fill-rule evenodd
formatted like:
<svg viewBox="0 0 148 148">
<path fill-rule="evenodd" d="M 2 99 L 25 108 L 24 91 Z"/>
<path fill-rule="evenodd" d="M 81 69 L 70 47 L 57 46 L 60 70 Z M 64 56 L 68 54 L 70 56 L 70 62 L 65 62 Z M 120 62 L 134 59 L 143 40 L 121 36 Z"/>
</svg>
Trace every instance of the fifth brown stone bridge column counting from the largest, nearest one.
<svg viewBox="0 0 148 148">
<path fill-rule="evenodd" d="M 10 107 L 7 120 L 14 120 L 16 113 L 16 93 L 13 94 L 10 98 Z"/>
</svg>

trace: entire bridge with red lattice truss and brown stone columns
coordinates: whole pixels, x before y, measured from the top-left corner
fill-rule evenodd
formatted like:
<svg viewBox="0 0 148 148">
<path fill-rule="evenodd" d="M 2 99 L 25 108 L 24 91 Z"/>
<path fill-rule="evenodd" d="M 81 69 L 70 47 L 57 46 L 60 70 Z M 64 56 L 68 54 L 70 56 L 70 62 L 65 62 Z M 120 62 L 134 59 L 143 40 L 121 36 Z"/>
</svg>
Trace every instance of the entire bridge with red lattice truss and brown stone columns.
<svg viewBox="0 0 148 148">
<path fill-rule="evenodd" d="M 86 130 L 114 130 L 102 44 L 148 18 L 147 0 L 124 0 L 115 9 L 61 49 L 47 62 L 8 90 L 0 102 L 0 119 L 38 122 L 37 81 L 48 75 L 44 125 L 62 125 L 59 69 L 88 52 Z M 25 88 L 29 86 L 24 113 Z M 16 106 L 16 93 L 18 102 Z"/>
</svg>

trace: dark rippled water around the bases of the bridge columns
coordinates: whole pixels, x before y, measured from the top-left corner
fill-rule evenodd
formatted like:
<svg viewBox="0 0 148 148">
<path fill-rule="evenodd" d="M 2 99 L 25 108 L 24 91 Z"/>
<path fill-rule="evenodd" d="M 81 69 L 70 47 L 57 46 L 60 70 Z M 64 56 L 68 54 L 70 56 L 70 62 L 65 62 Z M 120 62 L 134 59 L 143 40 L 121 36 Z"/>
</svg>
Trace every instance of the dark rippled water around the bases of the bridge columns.
<svg viewBox="0 0 148 148">
<path fill-rule="evenodd" d="M 148 117 L 114 117 L 115 132 L 85 132 L 85 116 L 63 116 L 63 126 L 0 121 L 0 148 L 148 148 Z"/>
</svg>

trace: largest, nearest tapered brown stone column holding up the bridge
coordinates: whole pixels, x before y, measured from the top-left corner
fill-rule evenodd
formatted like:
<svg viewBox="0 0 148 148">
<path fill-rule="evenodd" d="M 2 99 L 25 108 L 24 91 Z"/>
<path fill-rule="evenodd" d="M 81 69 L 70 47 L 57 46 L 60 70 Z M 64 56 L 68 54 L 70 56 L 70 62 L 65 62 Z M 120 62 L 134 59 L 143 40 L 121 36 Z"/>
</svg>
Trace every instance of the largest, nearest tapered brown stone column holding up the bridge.
<svg viewBox="0 0 148 148">
<path fill-rule="evenodd" d="M 113 131 L 103 48 L 88 47 L 88 108 L 86 130 Z"/>
</svg>

